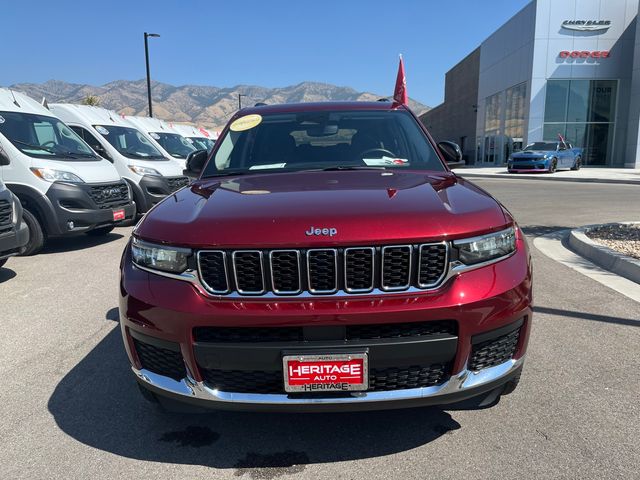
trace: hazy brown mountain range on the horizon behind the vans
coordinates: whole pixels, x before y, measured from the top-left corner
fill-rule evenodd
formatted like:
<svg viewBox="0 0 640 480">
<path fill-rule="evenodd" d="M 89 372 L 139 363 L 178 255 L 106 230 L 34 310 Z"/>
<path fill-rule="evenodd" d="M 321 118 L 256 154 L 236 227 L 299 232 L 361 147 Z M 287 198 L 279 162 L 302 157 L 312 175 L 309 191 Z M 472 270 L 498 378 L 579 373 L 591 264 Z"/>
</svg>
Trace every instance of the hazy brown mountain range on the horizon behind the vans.
<svg viewBox="0 0 640 480">
<path fill-rule="evenodd" d="M 49 80 L 44 83 L 11 85 L 30 97 L 48 103 L 81 103 L 88 96 L 97 97 L 99 105 L 125 115 L 147 115 L 147 84 L 142 80 L 116 80 L 102 86 Z M 174 86 L 152 82 L 153 114 L 155 117 L 179 123 L 191 123 L 207 128 L 221 128 L 238 109 L 238 95 L 243 106 L 257 102 L 299 103 L 322 101 L 371 101 L 382 98 L 369 92 L 327 83 L 302 82 L 281 88 L 254 85 L 213 87 L 199 85 Z M 429 107 L 409 100 L 409 107 L 420 115 Z"/>
</svg>

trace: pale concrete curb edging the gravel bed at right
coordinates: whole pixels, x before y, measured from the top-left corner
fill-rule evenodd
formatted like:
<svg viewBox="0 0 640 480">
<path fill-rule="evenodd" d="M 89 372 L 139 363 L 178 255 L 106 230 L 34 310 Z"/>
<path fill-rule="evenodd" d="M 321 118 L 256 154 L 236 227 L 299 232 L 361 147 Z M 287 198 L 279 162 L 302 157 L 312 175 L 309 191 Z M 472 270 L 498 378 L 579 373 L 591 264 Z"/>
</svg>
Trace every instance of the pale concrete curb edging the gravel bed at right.
<svg viewBox="0 0 640 480">
<path fill-rule="evenodd" d="M 623 222 L 625 224 L 635 224 L 638 222 Z M 611 224 L 608 224 L 611 225 Z M 602 225 L 588 225 L 576 228 L 569 233 L 569 245 L 572 249 L 583 257 L 603 268 L 627 278 L 632 282 L 640 284 L 640 260 L 637 260 L 622 253 L 616 252 L 608 247 L 599 245 L 589 237 L 586 232 Z"/>
</svg>

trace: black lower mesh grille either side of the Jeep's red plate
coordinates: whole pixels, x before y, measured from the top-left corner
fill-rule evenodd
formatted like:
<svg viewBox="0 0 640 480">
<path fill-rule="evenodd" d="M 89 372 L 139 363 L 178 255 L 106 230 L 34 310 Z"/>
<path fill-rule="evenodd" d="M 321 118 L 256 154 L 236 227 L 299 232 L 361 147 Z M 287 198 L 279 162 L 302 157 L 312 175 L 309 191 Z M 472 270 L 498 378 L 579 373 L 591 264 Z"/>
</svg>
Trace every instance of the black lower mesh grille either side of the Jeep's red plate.
<svg viewBox="0 0 640 480">
<path fill-rule="evenodd" d="M 369 372 L 368 392 L 432 387 L 448 378 L 449 366 L 435 364 L 401 368 L 377 368 Z M 202 369 L 210 388 L 237 393 L 285 393 L 282 371 L 240 371 Z"/>
</svg>

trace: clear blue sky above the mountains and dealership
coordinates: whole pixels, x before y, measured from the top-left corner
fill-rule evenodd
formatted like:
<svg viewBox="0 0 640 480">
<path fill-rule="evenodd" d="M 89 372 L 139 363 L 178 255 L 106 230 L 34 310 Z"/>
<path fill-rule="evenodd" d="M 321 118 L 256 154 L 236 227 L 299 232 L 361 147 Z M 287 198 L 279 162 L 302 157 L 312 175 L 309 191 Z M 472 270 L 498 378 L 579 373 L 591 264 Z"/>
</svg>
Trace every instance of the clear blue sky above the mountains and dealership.
<svg viewBox="0 0 640 480">
<path fill-rule="evenodd" d="M 437 105 L 444 74 L 529 0 L 56 0 L 3 2 L 0 85 L 278 87 L 305 80 L 389 94 L 398 53 L 409 95 Z"/>
</svg>

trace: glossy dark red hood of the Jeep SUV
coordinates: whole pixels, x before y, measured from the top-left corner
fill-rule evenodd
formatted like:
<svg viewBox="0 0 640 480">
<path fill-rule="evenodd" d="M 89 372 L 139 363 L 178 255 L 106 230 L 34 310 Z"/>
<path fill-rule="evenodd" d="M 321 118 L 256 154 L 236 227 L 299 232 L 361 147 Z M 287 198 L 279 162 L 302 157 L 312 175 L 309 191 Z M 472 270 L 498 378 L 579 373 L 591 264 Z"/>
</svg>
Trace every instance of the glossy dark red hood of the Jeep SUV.
<svg viewBox="0 0 640 480">
<path fill-rule="evenodd" d="M 491 196 L 452 173 L 352 170 L 199 180 L 135 234 L 189 247 L 313 247 L 460 238 L 507 223 Z M 312 227 L 335 234 L 308 235 Z"/>
</svg>

